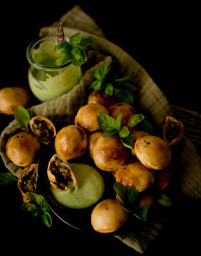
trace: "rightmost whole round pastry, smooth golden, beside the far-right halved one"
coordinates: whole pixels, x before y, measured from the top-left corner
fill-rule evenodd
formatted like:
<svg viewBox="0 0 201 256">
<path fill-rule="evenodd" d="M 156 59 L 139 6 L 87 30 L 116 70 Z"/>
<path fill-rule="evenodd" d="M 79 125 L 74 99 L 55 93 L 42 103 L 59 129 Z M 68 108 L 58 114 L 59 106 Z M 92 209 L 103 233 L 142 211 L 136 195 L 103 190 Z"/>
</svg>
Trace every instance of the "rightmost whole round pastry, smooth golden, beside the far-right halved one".
<svg viewBox="0 0 201 256">
<path fill-rule="evenodd" d="M 134 152 L 140 162 L 152 170 L 163 170 L 172 161 L 169 145 L 157 136 L 147 135 L 138 138 Z"/>
</svg>

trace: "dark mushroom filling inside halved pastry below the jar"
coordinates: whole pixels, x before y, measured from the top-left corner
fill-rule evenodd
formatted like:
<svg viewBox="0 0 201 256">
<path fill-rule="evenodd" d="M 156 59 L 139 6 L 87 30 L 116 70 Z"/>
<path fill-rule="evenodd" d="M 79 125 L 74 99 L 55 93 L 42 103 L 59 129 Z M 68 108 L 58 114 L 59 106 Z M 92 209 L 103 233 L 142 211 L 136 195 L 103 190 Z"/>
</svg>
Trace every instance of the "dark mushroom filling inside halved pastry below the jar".
<svg viewBox="0 0 201 256">
<path fill-rule="evenodd" d="M 48 142 L 54 136 L 52 127 L 45 120 L 34 120 L 33 129 L 42 141 Z"/>
</svg>

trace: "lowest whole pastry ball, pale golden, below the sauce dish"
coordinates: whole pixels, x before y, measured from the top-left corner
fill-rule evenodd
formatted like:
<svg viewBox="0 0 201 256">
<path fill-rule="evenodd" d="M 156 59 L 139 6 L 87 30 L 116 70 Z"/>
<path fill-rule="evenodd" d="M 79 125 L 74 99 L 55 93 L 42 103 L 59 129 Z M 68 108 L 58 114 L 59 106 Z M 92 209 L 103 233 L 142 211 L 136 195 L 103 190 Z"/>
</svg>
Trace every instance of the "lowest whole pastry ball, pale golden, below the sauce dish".
<svg viewBox="0 0 201 256">
<path fill-rule="evenodd" d="M 123 226 L 128 217 L 122 203 L 117 199 L 106 199 L 94 207 L 91 225 L 97 232 L 111 233 Z"/>
</svg>

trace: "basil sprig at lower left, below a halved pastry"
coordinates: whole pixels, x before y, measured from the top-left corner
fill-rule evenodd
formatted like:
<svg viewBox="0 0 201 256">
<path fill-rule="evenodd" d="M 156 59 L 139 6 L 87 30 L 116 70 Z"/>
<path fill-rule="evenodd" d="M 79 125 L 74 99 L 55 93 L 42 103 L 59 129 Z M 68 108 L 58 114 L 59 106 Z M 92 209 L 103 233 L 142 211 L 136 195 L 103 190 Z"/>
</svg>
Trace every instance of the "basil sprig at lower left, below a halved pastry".
<svg viewBox="0 0 201 256">
<path fill-rule="evenodd" d="M 26 193 L 27 198 L 30 200 L 29 203 L 21 205 L 21 209 L 24 211 L 31 212 L 31 216 L 34 218 L 40 217 L 45 226 L 50 228 L 52 226 L 52 217 L 48 211 L 50 211 L 45 199 L 42 195 L 35 193 Z"/>
</svg>

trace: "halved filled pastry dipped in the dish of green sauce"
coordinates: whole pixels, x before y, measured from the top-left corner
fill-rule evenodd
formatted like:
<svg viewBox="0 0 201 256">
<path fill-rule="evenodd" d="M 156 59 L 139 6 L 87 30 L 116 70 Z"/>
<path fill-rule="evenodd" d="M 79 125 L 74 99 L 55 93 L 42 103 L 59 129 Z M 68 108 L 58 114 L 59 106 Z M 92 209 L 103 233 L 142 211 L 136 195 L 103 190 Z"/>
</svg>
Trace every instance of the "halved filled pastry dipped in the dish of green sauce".
<svg viewBox="0 0 201 256">
<path fill-rule="evenodd" d="M 78 188 L 78 183 L 70 165 L 63 156 L 54 154 L 47 166 L 47 176 L 50 184 L 59 191 L 68 189 L 68 182 L 72 182 L 74 188 Z"/>
</svg>

